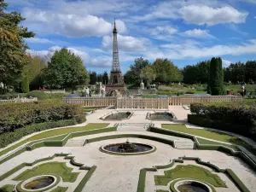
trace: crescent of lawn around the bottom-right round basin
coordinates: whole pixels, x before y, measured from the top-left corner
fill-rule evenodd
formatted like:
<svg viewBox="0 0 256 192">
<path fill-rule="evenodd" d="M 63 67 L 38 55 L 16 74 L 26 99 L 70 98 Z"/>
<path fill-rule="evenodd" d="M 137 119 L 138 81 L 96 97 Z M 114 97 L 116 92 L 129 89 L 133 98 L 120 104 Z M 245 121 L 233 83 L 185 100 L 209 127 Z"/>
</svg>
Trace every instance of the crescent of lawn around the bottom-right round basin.
<svg viewBox="0 0 256 192">
<path fill-rule="evenodd" d="M 167 185 L 167 183 L 177 178 L 198 179 L 211 183 L 214 187 L 226 188 L 225 183 L 218 177 L 218 175 L 213 174 L 201 166 L 192 165 L 178 165 L 174 169 L 165 171 L 165 175 L 154 176 L 154 182 L 156 185 Z"/>
</svg>

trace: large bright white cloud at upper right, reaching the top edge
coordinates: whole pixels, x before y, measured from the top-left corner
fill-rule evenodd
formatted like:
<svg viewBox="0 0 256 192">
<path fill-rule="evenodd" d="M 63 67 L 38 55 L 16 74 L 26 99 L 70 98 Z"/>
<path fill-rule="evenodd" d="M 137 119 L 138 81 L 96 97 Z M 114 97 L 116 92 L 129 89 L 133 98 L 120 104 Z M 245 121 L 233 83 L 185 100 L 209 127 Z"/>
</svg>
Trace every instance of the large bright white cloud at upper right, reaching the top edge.
<svg viewBox="0 0 256 192">
<path fill-rule="evenodd" d="M 187 23 L 213 26 L 220 23 L 244 23 L 248 13 L 218 0 L 178 0 L 160 2 L 148 9 L 149 14 L 135 15 L 137 21 L 183 19 Z"/>
</svg>

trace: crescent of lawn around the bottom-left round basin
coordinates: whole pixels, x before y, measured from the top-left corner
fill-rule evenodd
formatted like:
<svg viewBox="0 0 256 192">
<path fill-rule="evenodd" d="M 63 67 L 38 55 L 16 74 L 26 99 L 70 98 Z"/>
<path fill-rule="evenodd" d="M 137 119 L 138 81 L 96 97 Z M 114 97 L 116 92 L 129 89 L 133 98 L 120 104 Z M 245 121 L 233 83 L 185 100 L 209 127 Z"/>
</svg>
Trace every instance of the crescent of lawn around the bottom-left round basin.
<svg viewBox="0 0 256 192">
<path fill-rule="evenodd" d="M 77 180 L 79 172 L 72 171 L 73 168 L 67 167 L 65 162 L 49 162 L 22 172 L 19 176 L 15 177 L 14 180 L 22 181 L 39 175 L 54 174 L 62 177 L 63 182 L 73 183 Z"/>
</svg>

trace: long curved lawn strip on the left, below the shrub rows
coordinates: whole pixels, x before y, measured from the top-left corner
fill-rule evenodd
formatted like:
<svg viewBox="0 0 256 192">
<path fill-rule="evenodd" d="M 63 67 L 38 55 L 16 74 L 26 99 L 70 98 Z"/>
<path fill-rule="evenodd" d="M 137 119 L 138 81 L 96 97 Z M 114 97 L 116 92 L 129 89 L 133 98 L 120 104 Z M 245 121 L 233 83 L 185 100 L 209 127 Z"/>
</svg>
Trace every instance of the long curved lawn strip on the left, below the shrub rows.
<svg viewBox="0 0 256 192">
<path fill-rule="evenodd" d="M 3 154 L 8 153 L 9 151 L 20 147 L 20 145 L 27 143 L 27 142 L 33 142 L 36 141 L 38 139 L 44 139 L 47 137 L 53 137 L 53 136 L 59 136 L 61 134 L 68 134 L 71 132 L 75 132 L 75 131 L 88 131 L 88 130 L 95 130 L 95 129 L 99 129 L 99 128 L 103 128 L 108 126 L 108 124 L 88 124 L 85 126 L 79 126 L 79 127 L 67 127 L 67 128 L 62 128 L 62 129 L 56 129 L 56 130 L 49 130 L 49 131 L 45 131 L 42 133 L 38 133 L 35 136 L 29 137 L 25 140 L 23 140 L 20 143 L 16 143 L 15 145 L 4 149 L 3 151 L 0 152 L 0 156 Z M 60 136 L 60 138 L 63 138 L 65 136 Z M 57 140 L 56 138 L 51 138 L 52 140 Z M 49 139 L 48 139 L 49 140 Z"/>
</svg>

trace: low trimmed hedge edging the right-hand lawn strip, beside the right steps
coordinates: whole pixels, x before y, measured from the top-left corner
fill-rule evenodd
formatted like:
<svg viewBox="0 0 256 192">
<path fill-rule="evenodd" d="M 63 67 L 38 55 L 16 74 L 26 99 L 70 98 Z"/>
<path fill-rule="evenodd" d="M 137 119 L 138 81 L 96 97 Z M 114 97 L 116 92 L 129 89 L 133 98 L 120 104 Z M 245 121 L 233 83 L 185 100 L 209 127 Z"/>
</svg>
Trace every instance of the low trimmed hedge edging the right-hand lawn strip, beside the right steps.
<svg viewBox="0 0 256 192">
<path fill-rule="evenodd" d="M 212 144 L 201 144 L 198 142 L 196 136 L 190 135 L 188 133 L 183 133 L 179 131 L 171 131 L 166 130 L 164 128 L 158 128 L 158 127 L 150 127 L 149 131 L 164 134 L 164 135 L 172 135 L 176 137 L 183 137 L 183 138 L 189 138 L 192 141 L 195 142 L 196 148 L 200 150 L 218 150 L 227 154 L 231 154 L 233 156 L 240 157 L 242 160 L 244 160 L 249 166 L 253 168 L 253 170 L 256 170 L 256 162 L 251 159 L 247 154 L 245 154 L 242 151 L 235 151 L 233 148 L 228 148 L 224 145 L 212 145 Z"/>
</svg>

